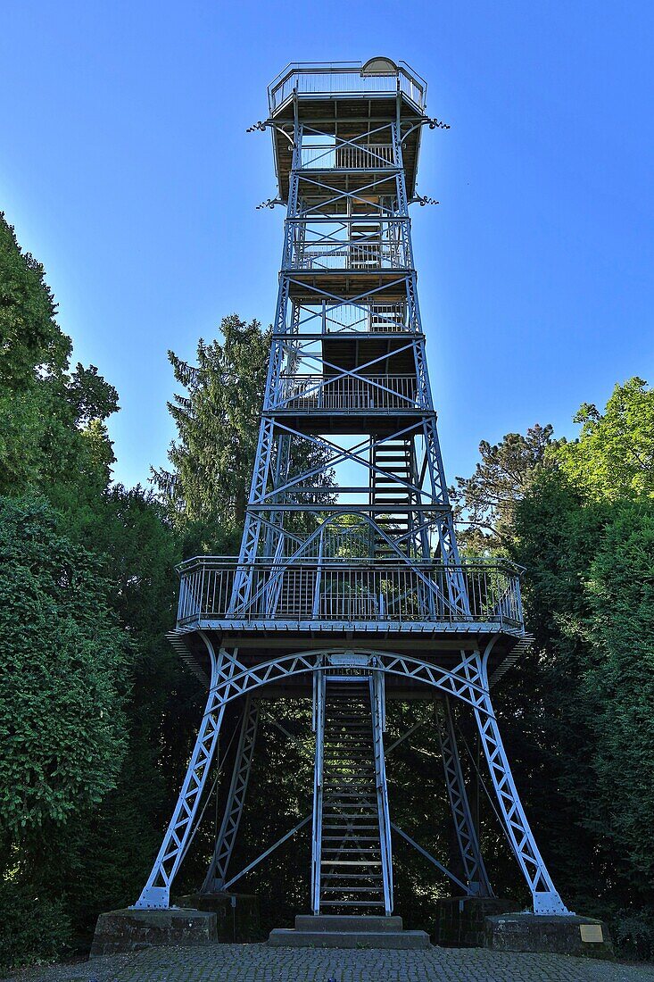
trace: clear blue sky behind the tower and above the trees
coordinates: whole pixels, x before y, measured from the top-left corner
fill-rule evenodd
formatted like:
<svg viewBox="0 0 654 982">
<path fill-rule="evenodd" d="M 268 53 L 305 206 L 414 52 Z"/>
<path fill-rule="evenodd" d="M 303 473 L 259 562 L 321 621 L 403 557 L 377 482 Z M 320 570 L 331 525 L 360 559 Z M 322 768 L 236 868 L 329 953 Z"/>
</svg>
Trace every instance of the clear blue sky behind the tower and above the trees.
<svg viewBox="0 0 654 982">
<path fill-rule="evenodd" d="M 414 250 L 449 478 L 481 439 L 575 431 L 654 382 L 651 0 L 0 7 L 0 208 L 75 357 L 119 390 L 117 479 L 173 436 L 166 352 L 272 319 L 283 211 L 266 85 L 290 61 L 404 59 L 428 82 Z"/>
</svg>

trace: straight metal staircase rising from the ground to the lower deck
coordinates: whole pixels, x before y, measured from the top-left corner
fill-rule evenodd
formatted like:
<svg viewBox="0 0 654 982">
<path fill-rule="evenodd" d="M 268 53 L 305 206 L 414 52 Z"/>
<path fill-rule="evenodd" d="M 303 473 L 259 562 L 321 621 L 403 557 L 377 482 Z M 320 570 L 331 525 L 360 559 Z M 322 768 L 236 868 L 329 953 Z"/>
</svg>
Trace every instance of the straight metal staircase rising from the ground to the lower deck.
<svg viewBox="0 0 654 982">
<path fill-rule="evenodd" d="M 316 673 L 312 908 L 393 910 L 384 680 Z"/>
</svg>

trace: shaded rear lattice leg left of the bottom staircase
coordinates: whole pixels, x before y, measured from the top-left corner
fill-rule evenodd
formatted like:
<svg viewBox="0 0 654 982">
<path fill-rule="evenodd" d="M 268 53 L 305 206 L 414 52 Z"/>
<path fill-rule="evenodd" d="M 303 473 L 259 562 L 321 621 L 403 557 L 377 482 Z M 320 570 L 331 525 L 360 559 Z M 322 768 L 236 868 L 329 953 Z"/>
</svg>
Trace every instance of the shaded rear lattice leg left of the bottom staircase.
<svg viewBox="0 0 654 982">
<path fill-rule="evenodd" d="M 215 894 L 225 889 L 227 870 L 232 858 L 241 816 L 245 804 L 245 792 L 249 781 L 249 772 L 254 753 L 254 743 L 258 724 L 258 703 L 245 696 L 245 709 L 241 736 L 236 751 L 232 783 L 227 795 L 223 821 L 216 839 L 213 857 L 209 864 L 201 893 Z"/>
</svg>

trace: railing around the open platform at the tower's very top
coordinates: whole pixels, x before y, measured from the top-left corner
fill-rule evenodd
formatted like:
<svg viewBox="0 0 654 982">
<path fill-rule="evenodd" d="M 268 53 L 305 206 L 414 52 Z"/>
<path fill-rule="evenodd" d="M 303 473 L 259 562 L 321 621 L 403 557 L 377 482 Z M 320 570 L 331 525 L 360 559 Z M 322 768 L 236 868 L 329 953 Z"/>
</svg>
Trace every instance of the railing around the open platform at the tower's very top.
<svg viewBox="0 0 654 982">
<path fill-rule="evenodd" d="M 380 95 L 404 92 L 418 109 L 425 107 L 424 82 L 416 79 L 402 65 L 398 74 L 362 76 L 360 66 L 293 65 L 268 89 L 268 102 L 274 113 L 294 92 L 299 95 Z"/>
</svg>

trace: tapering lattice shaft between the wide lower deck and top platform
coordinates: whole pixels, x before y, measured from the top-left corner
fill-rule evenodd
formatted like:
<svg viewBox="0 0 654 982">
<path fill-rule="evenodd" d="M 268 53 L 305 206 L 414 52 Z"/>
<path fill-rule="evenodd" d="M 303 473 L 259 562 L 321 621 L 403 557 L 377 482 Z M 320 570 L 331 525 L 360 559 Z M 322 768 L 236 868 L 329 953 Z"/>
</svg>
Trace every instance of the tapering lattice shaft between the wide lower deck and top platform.
<svg viewBox="0 0 654 982">
<path fill-rule="evenodd" d="M 280 289 L 233 610 L 247 603 L 250 568 L 258 557 L 274 556 L 283 565 L 289 552 L 297 551 L 289 539 L 294 534 L 291 512 L 313 514 L 316 522 L 329 518 L 329 503 L 314 499 L 325 491 L 324 477 L 331 468 L 354 464 L 364 475 L 358 485 L 335 489 L 338 510 L 348 495 L 367 493 L 369 506 L 382 514 L 370 489 L 388 483 L 388 467 L 377 461 L 384 447 L 391 453 L 398 441 L 414 448 L 413 463 L 407 477 L 399 475 L 393 484 L 401 500 L 387 505 L 385 527 L 400 529 L 397 538 L 404 553 L 459 565 L 415 290 L 403 138 L 399 122 L 391 120 L 345 136 L 333 136 L 317 124 L 296 123 Z M 359 177 L 344 186 L 339 175 L 353 172 Z M 363 283 L 360 277 L 368 268 L 381 270 L 385 282 Z M 346 272 L 364 289 L 349 286 L 344 291 Z M 390 306 L 385 302 L 389 291 L 401 298 Z M 312 321 L 318 330 L 311 331 Z M 364 357 L 354 366 L 330 358 L 325 348 L 330 339 L 344 332 L 352 337 L 361 326 L 366 336 L 375 337 L 377 330 L 381 339 L 393 339 L 389 353 Z M 410 385 L 404 376 L 394 376 L 393 359 L 412 366 Z M 344 445 L 288 418 L 291 409 L 303 416 L 312 409 L 328 411 L 333 417 L 366 407 L 387 413 L 410 410 L 415 419 Z M 302 447 L 321 452 L 321 464 L 291 476 L 288 461 Z M 286 464 L 280 465 L 282 460 Z M 360 501 L 356 507 L 365 511 Z M 428 518 L 424 508 L 432 509 Z M 394 518 L 401 514 L 408 517 L 408 528 L 407 519 Z M 453 572 L 448 589 L 450 602 L 465 611 L 461 573 Z"/>
</svg>

